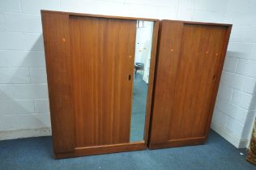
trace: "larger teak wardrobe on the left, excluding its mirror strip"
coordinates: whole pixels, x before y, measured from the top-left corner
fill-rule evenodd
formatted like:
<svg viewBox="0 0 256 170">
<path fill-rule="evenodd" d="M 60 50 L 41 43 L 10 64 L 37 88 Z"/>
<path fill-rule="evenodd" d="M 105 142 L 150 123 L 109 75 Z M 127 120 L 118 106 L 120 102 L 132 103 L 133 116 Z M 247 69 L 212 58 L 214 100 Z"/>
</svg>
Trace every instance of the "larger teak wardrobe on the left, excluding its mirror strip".
<svg viewBox="0 0 256 170">
<path fill-rule="evenodd" d="M 158 21 L 149 19 L 154 30 L 144 139 L 130 142 L 138 19 L 41 14 L 55 157 L 145 149 Z"/>
</svg>

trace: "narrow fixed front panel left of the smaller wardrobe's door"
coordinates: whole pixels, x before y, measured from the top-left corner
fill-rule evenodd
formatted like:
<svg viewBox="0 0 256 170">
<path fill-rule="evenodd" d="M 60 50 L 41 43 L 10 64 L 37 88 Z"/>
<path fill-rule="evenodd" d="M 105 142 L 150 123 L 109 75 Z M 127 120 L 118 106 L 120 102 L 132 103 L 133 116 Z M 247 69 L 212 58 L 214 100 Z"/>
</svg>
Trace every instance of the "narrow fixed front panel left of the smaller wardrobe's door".
<svg viewBox="0 0 256 170">
<path fill-rule="evenodd" d="M 158 40 L 157 55 L 161 57 L 158 57 L 156 61 L 157 73 L 153 100 L 159 102 L 153 103 L 154 108 L 158 110 L 157 114 L 151 115 L 154 120 L 151 124 L 151 126 L 154 125 L 154 128 L 151 128 L 151 142 L 165 142 L 169 138 L 169 119 L 171 116 L 169 110 L 172 108 L 172 103 L 169 101 L 173 100 L 174 96 L 182 28 L 183 23 L 160 23 L 159 34 L 168 34 L 168 37 L 159 36 Z M 161 81 L 160 87 L 157 85 L 159 81 Z"/>
</svg>

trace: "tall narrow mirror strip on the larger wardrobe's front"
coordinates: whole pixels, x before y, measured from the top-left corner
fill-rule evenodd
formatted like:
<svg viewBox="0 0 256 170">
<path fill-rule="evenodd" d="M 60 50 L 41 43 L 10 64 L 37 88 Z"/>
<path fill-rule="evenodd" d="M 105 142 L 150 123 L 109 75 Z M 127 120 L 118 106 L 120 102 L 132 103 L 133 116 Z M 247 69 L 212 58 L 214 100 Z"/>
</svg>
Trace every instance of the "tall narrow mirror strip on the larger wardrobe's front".
<svg viewBox="0 0 256 170">
<path fill-rule="evenodd" d="M 143 141 L 154 22 L 137 21 L 130 142 Z"/>
</svg>

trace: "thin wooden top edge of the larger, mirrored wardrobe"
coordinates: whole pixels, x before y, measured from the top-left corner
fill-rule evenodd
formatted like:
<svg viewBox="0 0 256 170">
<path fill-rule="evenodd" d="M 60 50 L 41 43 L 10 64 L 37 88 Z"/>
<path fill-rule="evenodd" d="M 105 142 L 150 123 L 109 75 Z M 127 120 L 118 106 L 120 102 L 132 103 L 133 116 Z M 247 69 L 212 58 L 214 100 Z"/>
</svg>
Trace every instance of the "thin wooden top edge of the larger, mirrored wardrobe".
<svg viewBox="0 0 256 170">
<path fill-rule="evenodd" d="M 159 19 L 147 19 L 147 18 L 134 18 L 134 17 L 125 17 L 125 16 L 113 16 L 113 15 L 92 15 L 92 14 L 82 14 L 75 12 L 64 12 L 64 11 L 46 11 L 41 10 L 41 13 L 52 13 L 52 14 L 65 14 L 73 16 L 88 16 L 96 18 L 105 18 L 105 19 L 129 19 L 129 20 L 144 20 L 144 21 L 159 21 Z"/>
</svg>

